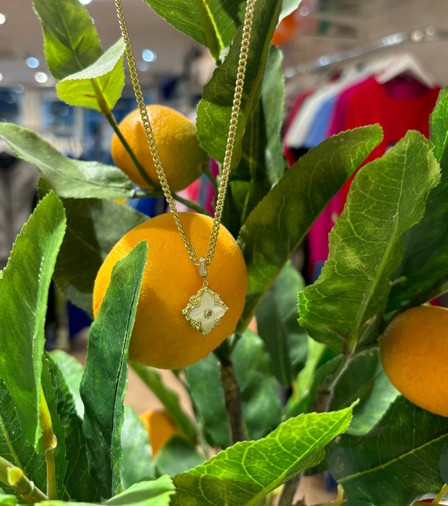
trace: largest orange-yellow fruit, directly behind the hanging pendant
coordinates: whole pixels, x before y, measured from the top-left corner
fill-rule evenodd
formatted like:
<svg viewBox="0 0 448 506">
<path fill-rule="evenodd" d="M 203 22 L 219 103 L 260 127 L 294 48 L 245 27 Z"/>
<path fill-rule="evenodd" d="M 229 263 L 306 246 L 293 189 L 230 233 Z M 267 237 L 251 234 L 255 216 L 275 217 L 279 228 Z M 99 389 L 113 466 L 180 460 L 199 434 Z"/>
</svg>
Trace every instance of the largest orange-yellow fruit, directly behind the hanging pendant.
<svg viewBox="0 0 448 506">
<path fill-rule="evenodd" d="M 197 256 L 206 256 L 212 218 L 196 213 L 179 216 Z M 157 216 L 132 229 L 110 251 L 95 280 L 95 316 L 109 286 L 112 267 L 143 240 L 148 242 L 148 256 L 129 358 L 162 369 L 180 369 L 206 357 L 235 330 L 245 305 L 246 264 L 235 239 L 221 225 L 207 281 L 229 310 L 204 336 L 182 315 L 190 297 L 202 287 L 199 268 L 190 260 L 172 214 Z"/>
</svg>

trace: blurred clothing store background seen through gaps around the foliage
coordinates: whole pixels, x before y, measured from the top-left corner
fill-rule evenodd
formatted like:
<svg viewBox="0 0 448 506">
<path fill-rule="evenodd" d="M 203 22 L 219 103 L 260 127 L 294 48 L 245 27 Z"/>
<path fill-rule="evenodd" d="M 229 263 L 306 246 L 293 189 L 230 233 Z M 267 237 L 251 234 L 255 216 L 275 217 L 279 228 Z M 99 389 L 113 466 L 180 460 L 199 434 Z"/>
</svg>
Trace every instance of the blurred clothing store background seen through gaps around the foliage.
<svg viewBox="0 0 448 506">
<path fill-rule="evenodd" d="M 113 0 L 79 1 L 95 21 L 103 48 L 109 48 L 120 36 Z M 144 0 L 123 0 L 123 5 L 146 103 L 168 105 L 194 121 L 202 87 L 215 68 L 208 51 L 158 17 Z M 282 136 L 290 163 L 328 135 L 370 122 L 379 121 L 387 133 L 376 156 L 410 128 L 428 135 L 428 114 L 439 89 L 448 83 L 446 0 L 303 0 L 281 22 L 273 42 L 284 55 Z M 118 121 L 136 107 L 127 69 L 126 76 L 114 109 Z M 42 28 L 31 0 L 2 0 L 0 121 L 26 126 L 70 157 L 112 164 L 109 123 L 100 113 L 61 102 L 56 83 L 44 58 Z M 20 167 L 16 163 L 0 139 L 0 269 L 36 201 L 37 172 L 26 162 L 20 161 Z M 10 180 L 11 171 L 19 168 L 20 198 Z M 191 191 L 201 198 L 197 185 Z M 338 198 L 297 256 L 309 282 L 328 253 L 328 232 L 342 210 L 344 192 Z M 145 199 L 133 205 L 154 216 L 164 211 L 165 202 Z M 47 316 L 48 347 L 68 349 L 84 362 L 88 315 L 67 304 L 53 287 Z M 164 371 L 164 378 L 182 394 L 171 371 Z M 139 382 L 130 370 L 127 402 L 143 412 L 158 401 L 146 388 L 142 395 Z M 186 396 L 182 402 L 191 413 Z M 327 497 L 314 488 L 309 494 L 308 503 Z"/>
</svg>

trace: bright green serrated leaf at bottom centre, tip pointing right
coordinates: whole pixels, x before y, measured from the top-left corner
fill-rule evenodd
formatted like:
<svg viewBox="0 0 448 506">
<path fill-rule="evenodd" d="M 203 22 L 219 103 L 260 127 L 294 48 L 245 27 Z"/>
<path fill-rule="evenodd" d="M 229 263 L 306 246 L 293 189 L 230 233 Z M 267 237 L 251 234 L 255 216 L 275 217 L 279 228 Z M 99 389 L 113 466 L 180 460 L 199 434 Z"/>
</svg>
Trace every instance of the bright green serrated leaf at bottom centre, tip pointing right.
<svg viewBox="0 0 448 506">
<path fill-rule="evenodd" d="M 221 451 L 203 465 L 176 476 L 177 506 L 249 506 L 316 465 L 323 447 L 344 432 L 351 408 L 291 418 L 259 441 L 243 441 Z"/>
</svg>

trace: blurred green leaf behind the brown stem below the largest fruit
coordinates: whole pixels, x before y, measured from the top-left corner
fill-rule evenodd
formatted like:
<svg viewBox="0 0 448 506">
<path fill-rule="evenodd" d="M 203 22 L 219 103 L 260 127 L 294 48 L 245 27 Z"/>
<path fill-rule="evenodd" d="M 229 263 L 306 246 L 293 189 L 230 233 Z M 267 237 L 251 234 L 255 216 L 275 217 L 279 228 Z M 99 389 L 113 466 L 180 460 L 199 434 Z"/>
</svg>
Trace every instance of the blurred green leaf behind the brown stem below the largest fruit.
<svg viewBox="0 0 448 506">
<path fill-rule="evenodd" d="M 280 402 L 263 341 L 251 330 L 246 330 L 233 351 L 232 360 L 247 438 L 259 439 L 280 423 Z M 217 358 L 211 353 L 186 367 L 185 375 L 206 435 L 214 445 L 226 448 L 229 433 Z"/>
</svg>

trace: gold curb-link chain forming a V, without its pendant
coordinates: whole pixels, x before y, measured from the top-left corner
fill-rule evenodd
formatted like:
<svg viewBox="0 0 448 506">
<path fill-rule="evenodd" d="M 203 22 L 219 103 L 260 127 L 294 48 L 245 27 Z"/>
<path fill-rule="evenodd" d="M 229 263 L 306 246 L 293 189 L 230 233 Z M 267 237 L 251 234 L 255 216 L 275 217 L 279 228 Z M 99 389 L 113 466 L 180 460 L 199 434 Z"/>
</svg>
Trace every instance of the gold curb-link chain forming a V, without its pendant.
<svg viewBox="0 0 448 506">
<path fill-rule="evenodd" d="M 244 22 L 244 28 L 242 32 L 241 50 L 239 53 L 238 72 L 236 74 L 236 85 L 235 94 L 233 96 L 232 116 L 230 119 L 229 136 L 227 138 L 226 153 L 224 156 L 224 163 L 221 175 L 221 184 L 219 186 L 218 198 L 216 200 L 215 217 L 213 219 L 212 232 L 210 234 L 209 248 L 207 250 L 207 256 L 205 258 L 206 265 L 210 265 L 215 254 L 216 242 L 218 240 L 219 226 L 221 223 L 221 217 L 224 207 L 224 200 L 226 196 L 227 184 L 229 182 L 230 166 L 232 161 L 233 145 L 235 143 L 236 128 L 238 125 L 239 107 L 241 105 L 242 90 L 244 86 L 244 78 L 246 75 L 246 64 L 249 52 L 249 40 L 251 37 L 252 21 L 254 17 L 254 4 L 256 0 L 247 0 L 246 16 Z M 194 265 L 199 265 L 199 259 L 191 245 L 183 227 L 180 222 L 179 214 L 176 209 L 176 204 L 171 194 L 170 187 L 168 185 L 167 178 L 165 176 L 164 169 L 158 154 L 157 146 L 154 140 L 154 134 L 152 133 L 151 124 L 149 122 L 148 112 L 146 105 L 143 100 L 142 90 L 140 88 L 140 82 L 135 66 L 134 55 L 131 47 L 131 40 L 129 38 L 128 28 L 126 27 L 125 15 L 123 13 L 123 6 L 121 6 L 121 0 L 115 0 L 116 11 L 121 28 L 121 34 L 126 44 L 126 55 L 128 58 L 129 71 L 131 73 L 132 84 L 134 86 L 135 97 L 137 104 L 140 109 L 140 116 L 143 122 L 143 128 L 145 129 L 146 138 L 148 139 L 149 148 L 151 150 L 152 160 L 154 162 L 158 179 L 162 190 L 164 191 L 165 198 L 167 199 L 168 205 L 170 206 L 171 212 L 176 222 L 177 228 L 185 242 L 185 246 L 188 249 L 188 253 Z"/>
</svg>

